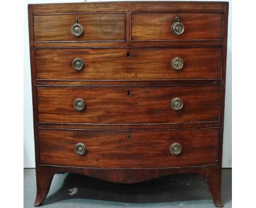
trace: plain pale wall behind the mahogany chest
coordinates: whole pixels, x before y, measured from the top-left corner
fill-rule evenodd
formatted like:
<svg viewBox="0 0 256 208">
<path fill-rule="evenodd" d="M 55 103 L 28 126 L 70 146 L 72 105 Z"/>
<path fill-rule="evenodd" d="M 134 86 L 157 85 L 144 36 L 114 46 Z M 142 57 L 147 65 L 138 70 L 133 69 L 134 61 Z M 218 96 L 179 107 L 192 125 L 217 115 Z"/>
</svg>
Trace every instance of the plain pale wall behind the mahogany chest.
<svg viewBox="0 0 256 208">
<path fill-rule="evenodd" d="M 111 0 L 114 1 L 114 0 Z M 127 0 L 126 0 L 127 1 Z M 198 1 L 198 0 L 197 0 Z M 34 140 L 33 140 L 33 110 L 31 93 L 31 74 L 30 74 L 30 50 L 28 42 L 28 21 L 27 4 L 36 3 L 69 3 L 84 2 L 84 0 L 24 0 L 24 167 L 33 168 L 34 163 Z M 85 2 L 100 2 L 92 0 Z M 226 99 L 225 99 L 225 118 L 224 118 L 224 141 L 223 141 L 223 167 L 232 167 L 232 1 L 229 1 L 229 28 L 228 28 L 228 54 L 226 64 Z"/>
</svg>

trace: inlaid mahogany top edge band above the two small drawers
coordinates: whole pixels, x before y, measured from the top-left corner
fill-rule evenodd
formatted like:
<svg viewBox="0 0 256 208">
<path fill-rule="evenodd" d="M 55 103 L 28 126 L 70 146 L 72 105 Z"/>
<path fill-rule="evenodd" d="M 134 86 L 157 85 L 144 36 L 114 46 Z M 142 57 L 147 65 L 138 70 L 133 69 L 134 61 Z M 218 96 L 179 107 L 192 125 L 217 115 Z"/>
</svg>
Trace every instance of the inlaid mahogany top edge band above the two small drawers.
<svg viewBox="0 0 256 208">
<path fill-rule="evenodd" d="M 63 4 L 33 4 L 34 14 L 85 13 L 101 11 L 190 11 L 204 13 L 224 13 L 226 2 L 86 2 Z"/>
</svg>

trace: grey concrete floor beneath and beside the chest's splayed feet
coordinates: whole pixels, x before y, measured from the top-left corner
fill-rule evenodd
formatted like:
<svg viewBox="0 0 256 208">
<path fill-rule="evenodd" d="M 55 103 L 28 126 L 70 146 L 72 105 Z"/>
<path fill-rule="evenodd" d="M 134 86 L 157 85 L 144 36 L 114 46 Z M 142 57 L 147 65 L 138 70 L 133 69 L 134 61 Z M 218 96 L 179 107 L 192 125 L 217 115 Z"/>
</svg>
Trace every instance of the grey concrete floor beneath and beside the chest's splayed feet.
<svg viewBox="0 0 256 208">
<path fill-rule="evenodd" d="M 222 199 L 225 208 L 232 206 L 231 178 L 232 170 L 223 169 Z M 35 169 L 24 169 L 24 207 L 34 207 L 35 197 Z M 205 180 L 200 175 L 169 175 L 141 183 L 120 184 L 67 173 L 55 174 L 42 206 L 45 208 L 215 207 Z"/>
</svg>

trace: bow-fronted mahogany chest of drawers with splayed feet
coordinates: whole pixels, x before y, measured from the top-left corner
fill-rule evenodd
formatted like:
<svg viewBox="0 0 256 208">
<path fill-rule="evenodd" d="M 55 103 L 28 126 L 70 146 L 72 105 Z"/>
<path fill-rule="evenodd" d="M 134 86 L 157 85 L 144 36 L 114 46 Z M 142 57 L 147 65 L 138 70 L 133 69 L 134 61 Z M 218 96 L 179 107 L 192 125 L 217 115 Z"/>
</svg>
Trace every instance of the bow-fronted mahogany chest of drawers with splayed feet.
<svg viewBox="0 0 256 208">
<path fill-rule="evenodd" d="M 216 206 L 227 2 L 28 5 L 37 196 L 57 173 L 201 174 Z"/>
</svg>

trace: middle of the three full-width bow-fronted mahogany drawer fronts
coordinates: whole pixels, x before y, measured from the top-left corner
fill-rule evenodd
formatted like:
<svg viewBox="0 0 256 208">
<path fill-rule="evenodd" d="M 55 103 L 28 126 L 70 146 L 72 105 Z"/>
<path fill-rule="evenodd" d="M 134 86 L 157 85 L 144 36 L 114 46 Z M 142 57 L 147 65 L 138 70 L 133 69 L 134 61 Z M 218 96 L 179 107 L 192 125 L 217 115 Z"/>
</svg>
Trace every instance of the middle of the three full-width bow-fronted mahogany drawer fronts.
<svg viewBox="0 0 256 208">
<path fill-rule="evenodd" d="M 38 120 L 40 123 L 76 124 L 219 121 L 219 93 L 219 85 L 37 87 Z M 179 110 L 171 107 L 176 97 L 183 102 Z M 84 100 L 83 111 L 74 108 L 76 99 Z M 83 106 L 81 102 L 76 103 L 78 108 Z"/>
</svg>

